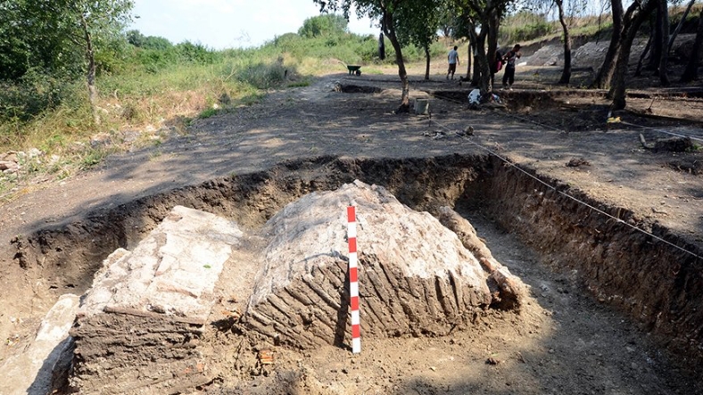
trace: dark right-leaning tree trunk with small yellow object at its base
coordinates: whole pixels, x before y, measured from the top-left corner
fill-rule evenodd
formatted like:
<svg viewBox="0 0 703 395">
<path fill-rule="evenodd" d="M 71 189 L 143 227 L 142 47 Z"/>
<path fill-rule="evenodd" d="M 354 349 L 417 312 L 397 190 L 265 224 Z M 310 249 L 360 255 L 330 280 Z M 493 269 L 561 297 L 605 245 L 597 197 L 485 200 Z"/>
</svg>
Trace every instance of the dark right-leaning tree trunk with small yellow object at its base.
<svg viewBox="0 0 703 395">
<path fill-rule="evenodd" d="M 613 86 L 608 92 L 608 97 L 613 99 L 613 110 L 623 110 L 625 101 L 625 76 L 630 62 L 630 52 L 633 47 L 634 37 L 640 29 L 642 22 L 649 18 L 649 14 L 658 6 L 657 0 L 649 0 L 640 8 L 639 4 L 633 3 L 627 9 L 624 17 L 623 42 L 620 45 L 620 54 L 617 57 L 616 72 L 613 76 Z"/>
</svg>

